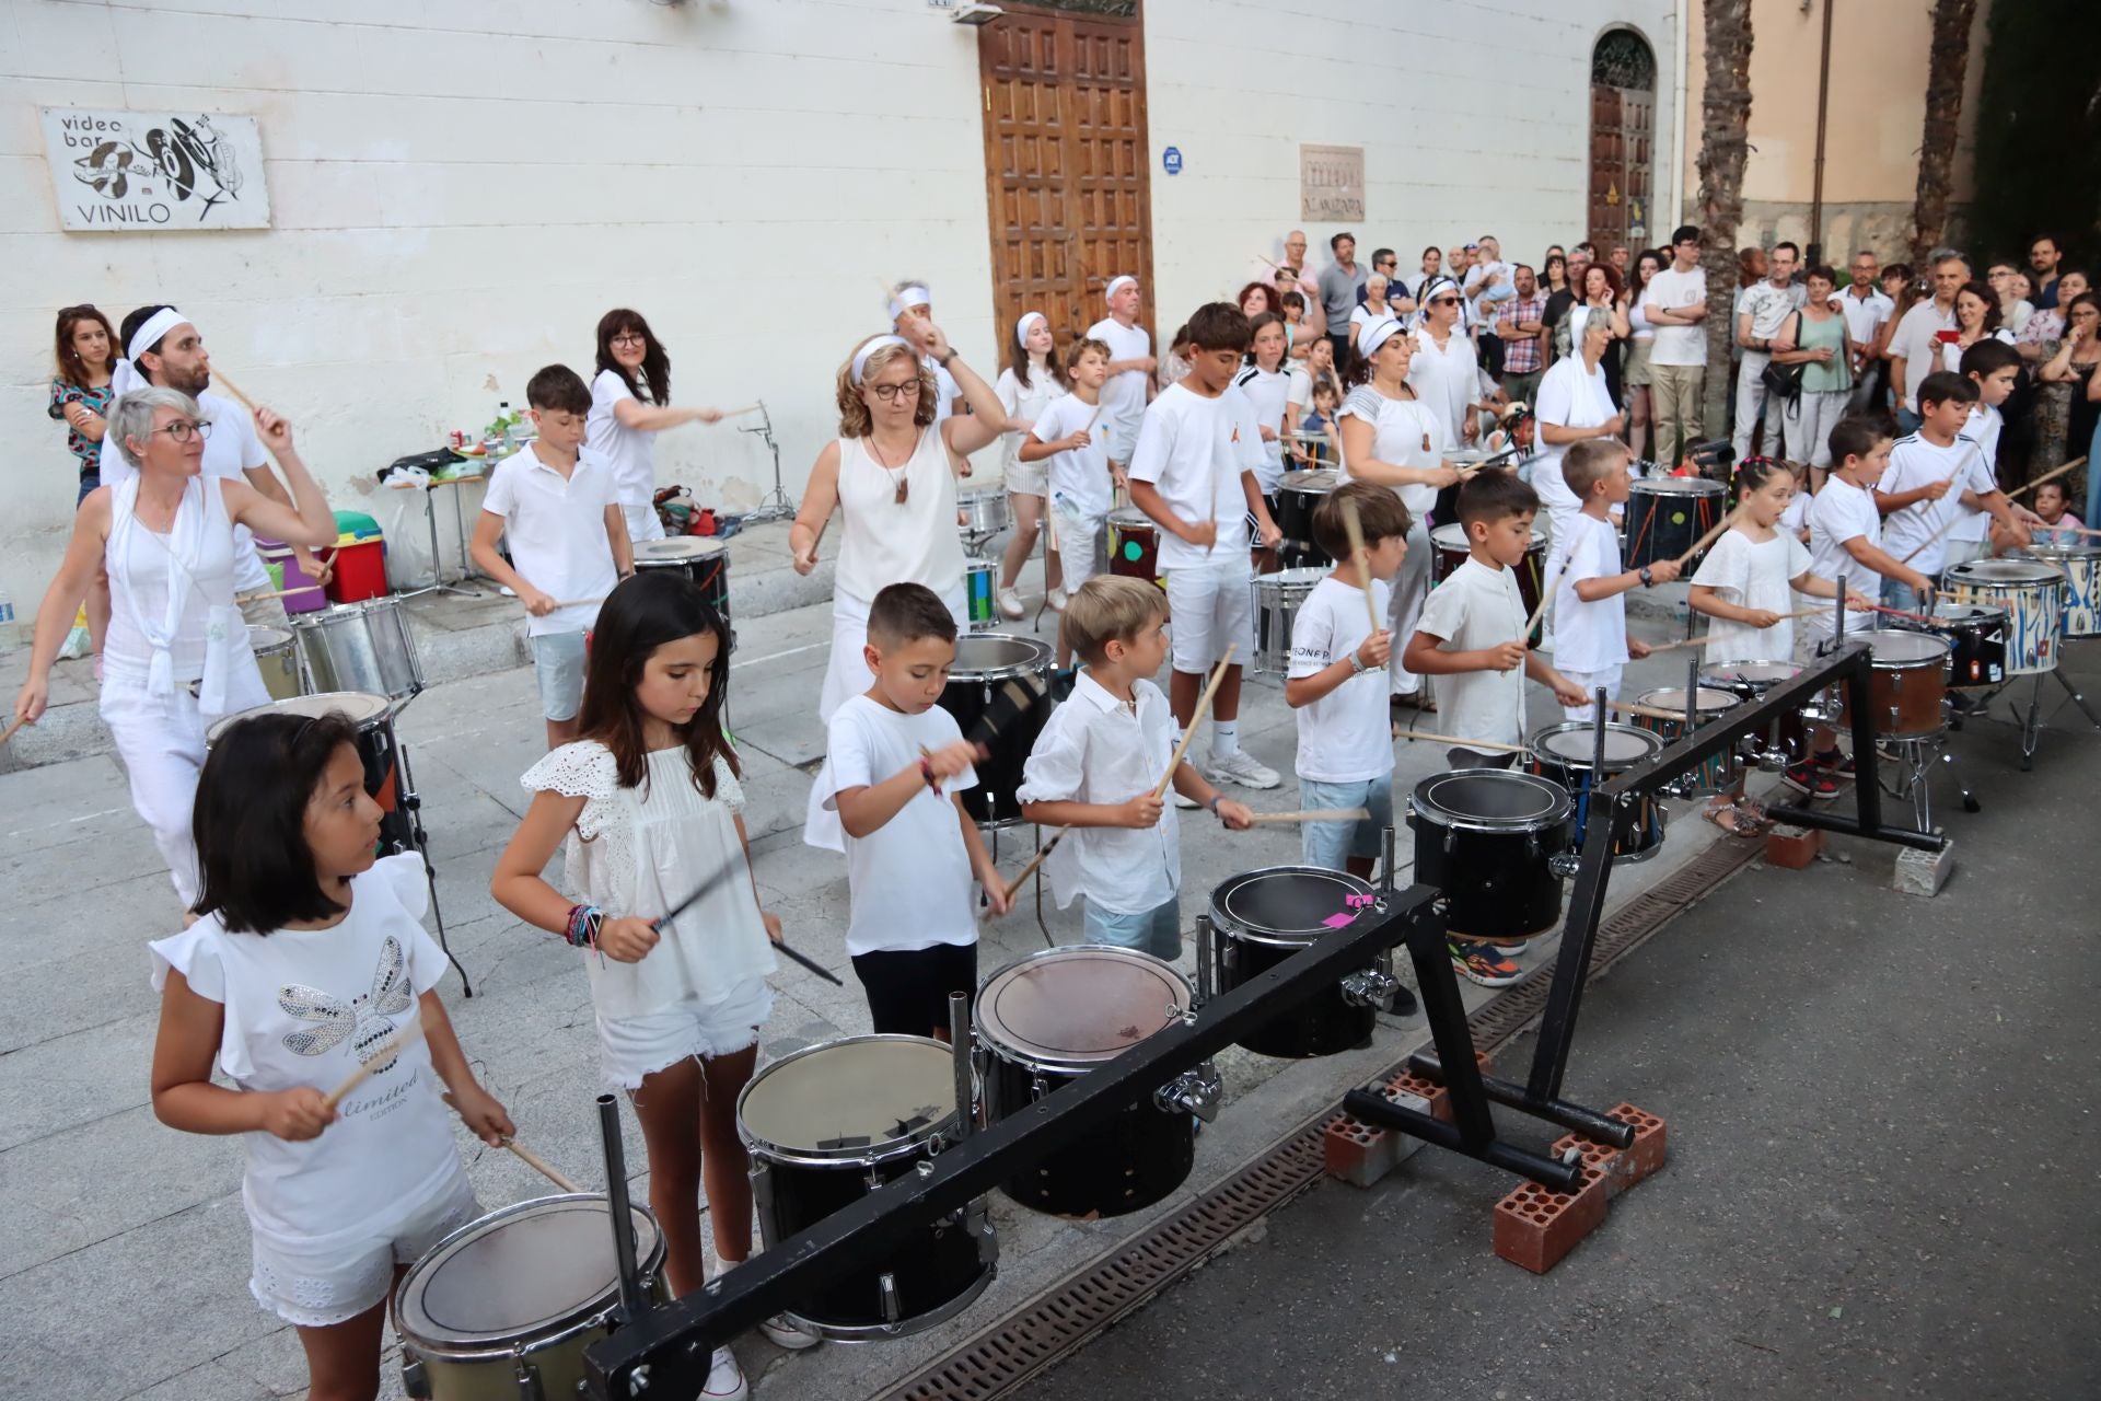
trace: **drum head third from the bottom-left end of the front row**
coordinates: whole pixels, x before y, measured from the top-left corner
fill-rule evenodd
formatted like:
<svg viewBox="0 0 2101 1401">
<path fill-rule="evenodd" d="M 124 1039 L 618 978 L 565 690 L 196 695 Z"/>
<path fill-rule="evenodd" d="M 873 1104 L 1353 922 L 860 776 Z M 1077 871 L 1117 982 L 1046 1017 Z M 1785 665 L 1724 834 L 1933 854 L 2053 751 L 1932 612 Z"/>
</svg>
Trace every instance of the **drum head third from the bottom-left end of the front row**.
<svg viewBox="0 0 2101 1401">
<path fill-rule="evenodd" d="M 1038 1069 L 1084 1071 L 1166 1027 L 1189 1000 L 1189 981 L 1151 954 L 1044 949 L 985 979 L 977 1033 Z"/>
</svg>

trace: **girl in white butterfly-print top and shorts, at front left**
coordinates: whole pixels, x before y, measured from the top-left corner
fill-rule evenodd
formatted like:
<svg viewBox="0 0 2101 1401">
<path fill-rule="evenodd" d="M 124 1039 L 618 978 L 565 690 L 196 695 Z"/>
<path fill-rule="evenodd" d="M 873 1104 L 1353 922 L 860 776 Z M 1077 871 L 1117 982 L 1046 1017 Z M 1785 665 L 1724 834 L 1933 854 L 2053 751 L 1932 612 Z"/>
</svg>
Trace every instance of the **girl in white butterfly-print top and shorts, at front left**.
<svg viewBox="0 0 2101 1401">
<path fill-rule="evenodd" d="M 309 1397 L 370 1401 L 403 1269 L 481 1214 L 431 1078 L 487 1143 L 511 1115 L 437 1000 L 422 857 L 372 857 L 380 807 L 347 718 L 229 727 L 195 828 L 202 918 L 151 945 L 153 1113 L 248 1141 L 248 1292 L 298 1330 Z"/>
</svg>

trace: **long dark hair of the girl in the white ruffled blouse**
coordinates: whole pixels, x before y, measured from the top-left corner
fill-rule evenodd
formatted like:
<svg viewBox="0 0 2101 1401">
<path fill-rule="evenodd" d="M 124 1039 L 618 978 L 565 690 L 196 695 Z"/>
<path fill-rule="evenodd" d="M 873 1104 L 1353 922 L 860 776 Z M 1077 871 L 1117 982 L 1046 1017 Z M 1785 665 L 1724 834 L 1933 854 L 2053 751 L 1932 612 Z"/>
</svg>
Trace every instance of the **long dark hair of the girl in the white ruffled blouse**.
<svg viewBox="0 0 2101 1401">
<path fill-rule="evenodd" d="M 643 666 L 666 643 L 714 634 L 714 662 L 708 666 L 708 699 L 685 725 L 674 725 L 685 741 L 685 758 L 693 769 L 693 788 L 714 796 L 714 760 L 742 775 L 737 752 L 723 737 L 723 704 L 729 697 L 729 626 L 708 605 L 700 584 L 683 569 L 643 569 L 607 594 L 599 622 L 590 632 L 590 662 L 584 666 L 584 708 L 576 716 L 578 733 L 597 739 L 613 752 L 622 788 L 645 788 L 649 781 L 649 746 L 643 741 L 643 708 L 635 687 Z"/>
</svg>

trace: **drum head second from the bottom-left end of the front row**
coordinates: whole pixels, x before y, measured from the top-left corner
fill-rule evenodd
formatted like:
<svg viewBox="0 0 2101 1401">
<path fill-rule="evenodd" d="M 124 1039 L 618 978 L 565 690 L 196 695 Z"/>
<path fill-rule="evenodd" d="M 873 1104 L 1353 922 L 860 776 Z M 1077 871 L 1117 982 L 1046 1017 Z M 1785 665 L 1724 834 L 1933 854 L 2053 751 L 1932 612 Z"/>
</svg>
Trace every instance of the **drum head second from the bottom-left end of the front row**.
<svg viewBox="0 0 2101 1401">
<path fill-rule="evenodd" d="M 872 1157 L 956 1117 L 956 1063 L 927 1036 L 849 1036 L 758 1071 L 737 1128 L 782 1157 Z"/>
</svg>

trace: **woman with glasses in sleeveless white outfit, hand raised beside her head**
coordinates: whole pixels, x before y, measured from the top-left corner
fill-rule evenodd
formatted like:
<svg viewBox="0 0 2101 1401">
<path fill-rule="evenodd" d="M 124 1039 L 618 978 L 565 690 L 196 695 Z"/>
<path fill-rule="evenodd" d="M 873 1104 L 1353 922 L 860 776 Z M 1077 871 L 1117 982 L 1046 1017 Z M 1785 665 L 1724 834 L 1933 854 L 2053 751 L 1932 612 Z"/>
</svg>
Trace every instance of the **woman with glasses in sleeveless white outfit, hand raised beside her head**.
<svg viewBox="0 0 2101 1401">
<path fill-rule="evenodd" d="M 796 573 L 817 567 L 817 542 L 845 515 L 832 578 L 832 666 L 817 716 L 870 685 L 868 605 L 887 584 L 924 584 L 969 626 L 962 597 L 962 542 L 956 538 L 956 475 L 969 454 L 1006 433 L 1006 410 L 948 344 L 939 326 L 903 321 L 903 336 L 870 336 L 838 368 L 838 437 L 824 445 L 803 487 L 803 508 L 788 529 Z M 924 353 L 924 359 L 922 359 Z M 927 363 L 956 378 L 971 412 L 935 418 L 935 380 Z"/>
</svg>

